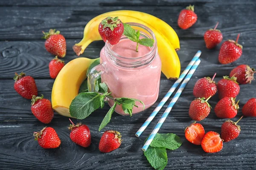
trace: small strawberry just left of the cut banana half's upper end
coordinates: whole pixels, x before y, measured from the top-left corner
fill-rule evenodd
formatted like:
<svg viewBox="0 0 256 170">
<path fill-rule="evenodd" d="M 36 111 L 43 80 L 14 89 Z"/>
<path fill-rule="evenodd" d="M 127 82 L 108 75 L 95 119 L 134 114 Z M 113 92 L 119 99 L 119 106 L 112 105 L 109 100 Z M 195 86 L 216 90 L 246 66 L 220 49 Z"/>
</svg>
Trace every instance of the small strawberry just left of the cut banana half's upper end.
<svg viewBox="0 0 256 170">
<path fill-rule="evenodd" d="M 61 59 L 58 59 L 58 56 L 52 59 L 49 63 L 50 77 L 52 79 L 56 79 L 56 77 L 58 76 L 58 73 L 61 71 L 64 65 L 65 65 L 64 61 Z"/>
</svg>

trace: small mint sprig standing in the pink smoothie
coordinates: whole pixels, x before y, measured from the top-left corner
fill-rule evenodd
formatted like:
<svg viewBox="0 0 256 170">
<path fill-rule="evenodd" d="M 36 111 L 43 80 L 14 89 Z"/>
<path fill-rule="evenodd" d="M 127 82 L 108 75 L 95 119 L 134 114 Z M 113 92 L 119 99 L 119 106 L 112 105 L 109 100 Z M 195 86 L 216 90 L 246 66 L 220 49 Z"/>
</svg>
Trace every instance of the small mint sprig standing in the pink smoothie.
<svg viewBox="0 0 256 170">
<path fill-rule="evenodd" d="M 152 47 L 154 45 L 154 40 L 151 38 L 140 39 L 140 30 L 136 31 L 131 28 L 130 25 L 123 23 L 124 25 L 124 35 L 131 41 L 137 42 L 136 51 L 138 52 L 139 44 L 147 47 Z"/>
</svg>

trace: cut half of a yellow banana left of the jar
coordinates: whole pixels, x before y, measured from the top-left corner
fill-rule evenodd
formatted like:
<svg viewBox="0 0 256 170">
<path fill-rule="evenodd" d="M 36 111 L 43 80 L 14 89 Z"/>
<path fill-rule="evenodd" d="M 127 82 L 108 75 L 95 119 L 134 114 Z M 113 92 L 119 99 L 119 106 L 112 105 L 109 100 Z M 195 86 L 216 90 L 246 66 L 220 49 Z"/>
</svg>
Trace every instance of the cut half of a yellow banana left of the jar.
<svg viewBox="0 0 256 170">
<path fill-rule="evenodd" d="M 59 72 L 52 87 L 52 108 L 63 116 L 72 117 L 69 106 L 86 79 L 88 67 L 96 59 L 76 58 L 68 62 Z"/>
</svg>

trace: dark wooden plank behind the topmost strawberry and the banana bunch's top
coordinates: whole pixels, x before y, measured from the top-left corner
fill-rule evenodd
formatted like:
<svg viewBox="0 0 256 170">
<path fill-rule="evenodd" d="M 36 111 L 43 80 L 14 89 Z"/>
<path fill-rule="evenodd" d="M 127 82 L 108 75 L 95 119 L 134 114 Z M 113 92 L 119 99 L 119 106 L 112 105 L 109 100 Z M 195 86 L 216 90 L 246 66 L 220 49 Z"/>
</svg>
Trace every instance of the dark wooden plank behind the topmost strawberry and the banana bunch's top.
<svg viewBox="0 0 256 170">
<path fill-rule="evenodd" d="M 250 1 L 251 2 L 251 1 Z M 130 9 L 153 14 L 172 26 L 180 39 L 202 39 L 204 32 L 213 28 L 219 21 L 218 28 L 224 34 L 224 39 L 241 37 L 256 38 L 255 3 L 222 4 L 199 3 L 195 7 L 198 21 L 188 30 L 181 30 L 177 26 L 177 17 L 185 6 L 115 6 L 115 7 L 0 7 L 0 20 L 4 27 L 0 28 L 0 40 L 31 40 L 40 39 L 41 31 L 56 28 L 67 39 L 81 39 L 84 26 L 93 17 L 107 11 Z M 54 12 L 53 12 L 54 11 Z M 63 12 L 65 11 L 65 12 Z M 234 12 L 236 11 L 236 12 Z M 232 16 L 232 17 L 230 17 Z M 244 17 L 248 16 L 248 17 Z"/>
</svg>

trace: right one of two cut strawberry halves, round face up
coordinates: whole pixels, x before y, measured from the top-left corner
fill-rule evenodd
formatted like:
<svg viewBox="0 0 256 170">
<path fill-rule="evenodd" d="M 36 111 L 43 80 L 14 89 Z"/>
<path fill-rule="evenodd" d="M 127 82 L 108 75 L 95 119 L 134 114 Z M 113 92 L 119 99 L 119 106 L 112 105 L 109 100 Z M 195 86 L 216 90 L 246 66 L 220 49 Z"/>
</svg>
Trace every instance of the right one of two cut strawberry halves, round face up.
<svg viewBox="0 0 256 170">
<path fill-rule="evenodd" d="M 223 148 L 223 142 L 220 134 L 213 131 L 207 132 L 201 142 L 201 146 L 204 152 L 207 153 L 215 153 L 221 151 Z"/>
</svg>

